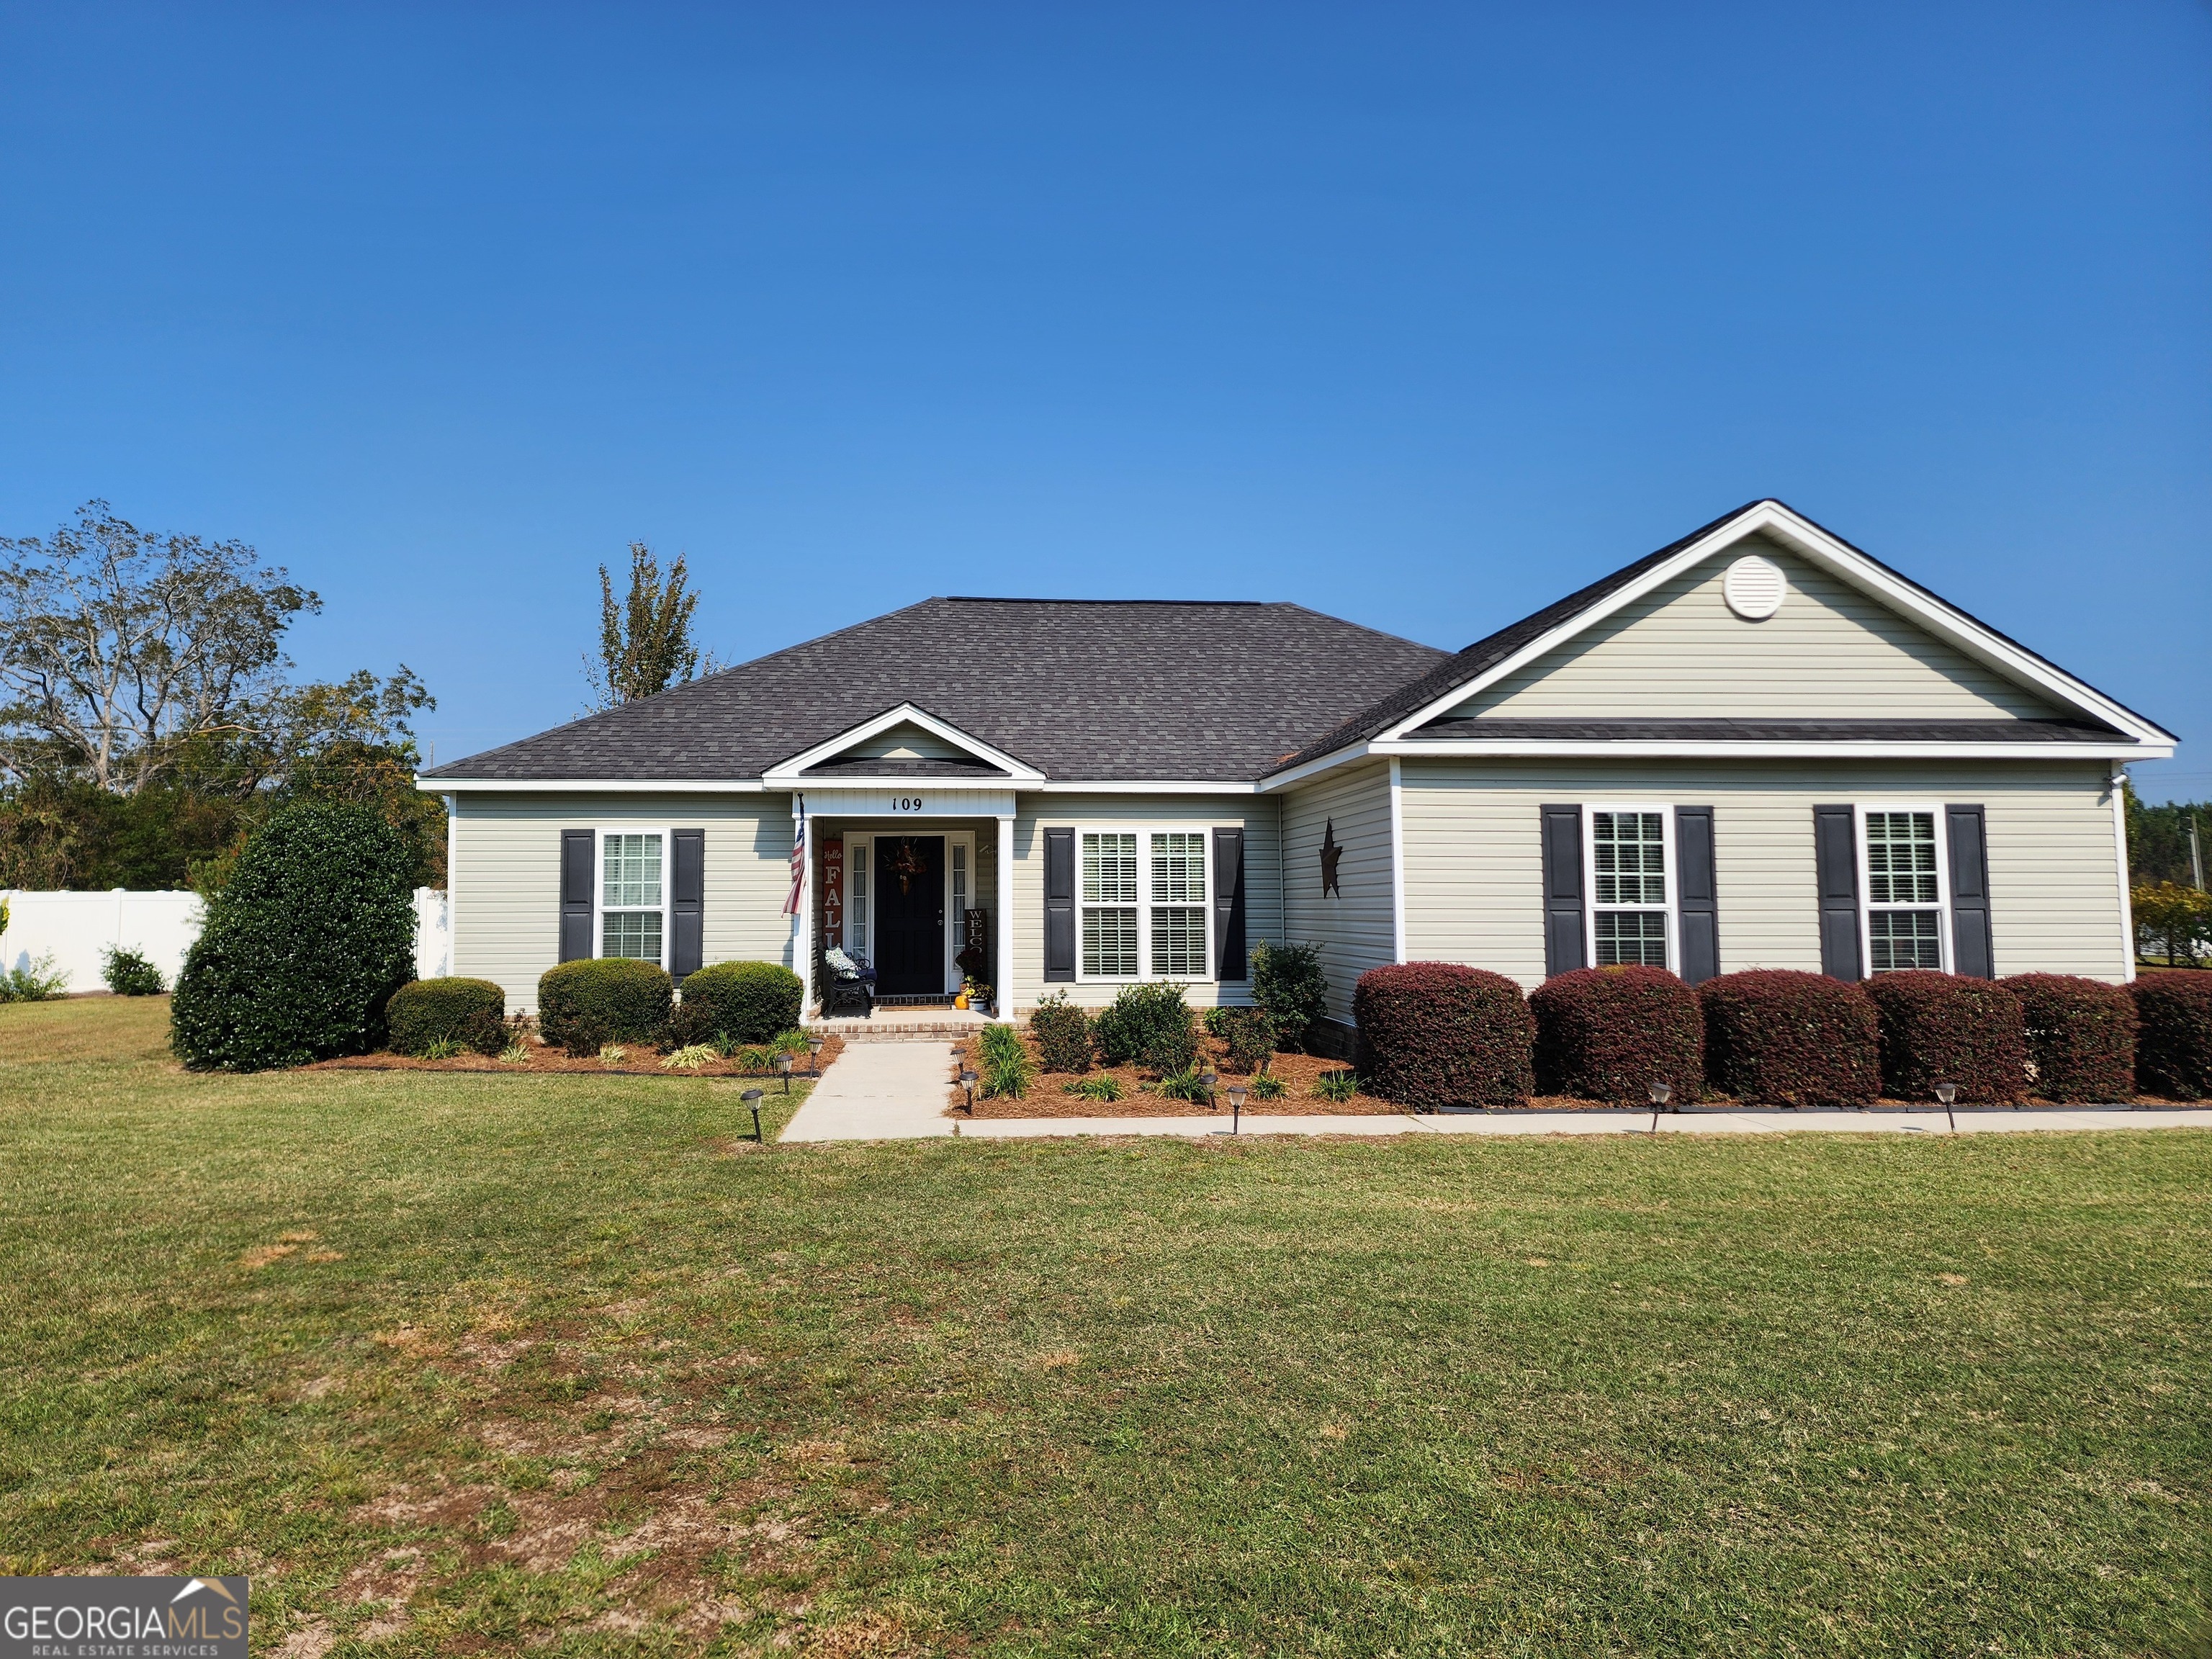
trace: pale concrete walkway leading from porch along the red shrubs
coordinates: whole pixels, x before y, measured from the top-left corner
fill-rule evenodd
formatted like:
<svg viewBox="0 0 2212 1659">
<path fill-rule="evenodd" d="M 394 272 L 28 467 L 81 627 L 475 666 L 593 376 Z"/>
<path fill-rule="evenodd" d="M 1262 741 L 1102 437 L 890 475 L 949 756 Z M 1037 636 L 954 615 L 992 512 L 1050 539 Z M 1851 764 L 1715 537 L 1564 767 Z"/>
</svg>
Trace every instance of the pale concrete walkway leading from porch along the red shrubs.
<svg viewBox="0 0 2212 1659">
<path fill-rule="evenodd" d="M 1062 1135 L 1228 1135 L 1230 1115 L 1190 1117 L 947 1117 L 951 1075 L 947 1042 L 856 1042 L 845 1048 L 805 1099 L 785 1141 L 909 1141 L 933 1135 L 975 1139 L 1040 1139 Z M 2064 1110 L 1997 1110 L 1962 1106 L 1960 1135 L 2093 1128 L 2212 1128 L 2212 1110 L 2075 1106 Z M 1389 1113 L 1374 1117 L 1290 1117 L 1245 1113 L 1245 1135 L 1650 1135 L 1652 1115 L 1593 1113 Z M 1686 1110 L 1659 1113 L 1659 1135 L 1949 1135 L 1942 1110 L 1785 1113 Z"/>
</svg>

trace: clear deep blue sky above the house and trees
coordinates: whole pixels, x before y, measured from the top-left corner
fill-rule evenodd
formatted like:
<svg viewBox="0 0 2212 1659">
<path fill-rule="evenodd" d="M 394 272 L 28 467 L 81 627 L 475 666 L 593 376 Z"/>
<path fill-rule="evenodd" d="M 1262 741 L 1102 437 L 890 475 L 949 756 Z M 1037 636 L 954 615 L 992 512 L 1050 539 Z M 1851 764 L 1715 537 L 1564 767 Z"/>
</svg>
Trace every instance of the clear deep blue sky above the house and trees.
<svg viewBox="0 0 2212 1659">
<path fill-rule="evenodd" d="M 1458 648 L 1781 495 L 2212 794 L 2212 9 L 0 9 L 0 533 L 327 599 L 440 759 L 595 566 Z M 1203 664 L 1192 666 L 1203 672 Z"/>
</svg>

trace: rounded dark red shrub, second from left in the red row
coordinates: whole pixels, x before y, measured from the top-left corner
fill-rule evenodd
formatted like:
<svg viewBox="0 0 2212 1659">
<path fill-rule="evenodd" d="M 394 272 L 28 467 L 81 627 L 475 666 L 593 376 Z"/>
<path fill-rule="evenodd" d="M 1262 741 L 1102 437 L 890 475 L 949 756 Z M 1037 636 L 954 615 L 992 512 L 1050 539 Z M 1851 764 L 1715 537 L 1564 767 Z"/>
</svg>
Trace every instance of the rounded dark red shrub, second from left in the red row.
<svg viewBox="0 0 2212 1659">
<path fill-rule="evenodd" d="M 1644 1106 L 1652 1084 L 1677 1102 L 1705 1082 L 1705 1022 L 1697 991 L 1666 969 L 1577 969 L 1528 993 L 1535 1086 L 1544 1095 Z"/>
</svg>

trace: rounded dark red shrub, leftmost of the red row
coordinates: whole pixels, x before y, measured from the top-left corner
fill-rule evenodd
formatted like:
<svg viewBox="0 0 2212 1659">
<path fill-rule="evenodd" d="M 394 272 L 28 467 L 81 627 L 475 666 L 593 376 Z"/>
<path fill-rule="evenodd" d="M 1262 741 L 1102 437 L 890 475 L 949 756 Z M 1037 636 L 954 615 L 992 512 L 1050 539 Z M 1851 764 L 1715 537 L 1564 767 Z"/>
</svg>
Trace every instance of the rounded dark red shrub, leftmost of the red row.
<svg viewBox="0 0 2212 1659">
<path fill-rule="evenodd" d="M 1458 962 L 1367 969 L 1352 987 L 1367 1091 L 1402 1106 L 1517 1106 L 1535 1086 L 1528 998 Z"/>
</svg>

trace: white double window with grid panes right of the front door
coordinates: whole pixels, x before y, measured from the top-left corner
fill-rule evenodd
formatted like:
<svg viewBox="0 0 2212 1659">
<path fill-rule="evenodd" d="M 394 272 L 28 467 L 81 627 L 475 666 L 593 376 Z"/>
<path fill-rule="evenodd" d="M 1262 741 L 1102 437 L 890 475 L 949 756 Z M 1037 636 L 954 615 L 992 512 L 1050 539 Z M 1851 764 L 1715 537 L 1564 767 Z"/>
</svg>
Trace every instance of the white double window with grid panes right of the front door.
<svg viewBox="0 0 2212 1659">
<path fill-rule="evenodd" d="M 1210 843 L 1210 830 L 1077 834 L 1079 978 L 1212 978 Z"/>
</svg>

